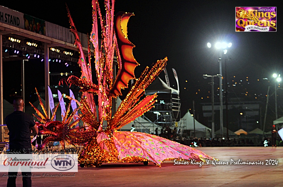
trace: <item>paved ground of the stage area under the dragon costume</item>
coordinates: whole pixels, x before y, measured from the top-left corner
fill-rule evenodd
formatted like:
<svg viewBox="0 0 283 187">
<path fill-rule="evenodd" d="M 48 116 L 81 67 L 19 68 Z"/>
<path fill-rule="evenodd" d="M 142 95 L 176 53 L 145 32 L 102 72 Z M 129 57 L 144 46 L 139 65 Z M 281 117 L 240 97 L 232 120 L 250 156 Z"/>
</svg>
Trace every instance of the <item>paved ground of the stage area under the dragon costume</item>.
<svg viewBox="0 0 283 187">
<path fill-rule="evenodd" d="M 147 166 L 142 163 L 103 164 L 101 168 L 78 168 L 75 177 L 34 177 L 32 186 L 283 186 L 283 147 L 201 147 L 199 150 L 228 165 L 210 162 L 200 167 L 174 165 L 173 161 L 162 163 L 162 168 L 152 163 Z M 262 161 L 264 165 L 230 164 L 231 159 Z M 265 160 L 277 160 L 278 164 L 265 165 Z M 0 186 L 6 186 L 7 178 L 2 177 L 3 174 L 0 173 Z M 21 178 L 17 178 L 17 186 L 22 186 Z"/>
</svg>

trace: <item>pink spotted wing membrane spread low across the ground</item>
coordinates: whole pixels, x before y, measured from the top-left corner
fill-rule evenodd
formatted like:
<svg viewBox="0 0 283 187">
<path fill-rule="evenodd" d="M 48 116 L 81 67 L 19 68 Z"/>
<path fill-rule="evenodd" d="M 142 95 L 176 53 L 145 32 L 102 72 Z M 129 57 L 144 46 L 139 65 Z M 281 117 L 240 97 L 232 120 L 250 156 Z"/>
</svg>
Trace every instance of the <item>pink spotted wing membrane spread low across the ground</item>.
<svg viewBox="0 0 283 187">
<path fill-rule="evenodd" d="M 113 133 L 114 143 L 118 149 L 119 159 L 125 157 L 142 157 L 158 166 L 168 159 L 195 161 L 213 160 L 213 157 L 177 142 L 140 132 L 117 131 Z"/>
</svg>

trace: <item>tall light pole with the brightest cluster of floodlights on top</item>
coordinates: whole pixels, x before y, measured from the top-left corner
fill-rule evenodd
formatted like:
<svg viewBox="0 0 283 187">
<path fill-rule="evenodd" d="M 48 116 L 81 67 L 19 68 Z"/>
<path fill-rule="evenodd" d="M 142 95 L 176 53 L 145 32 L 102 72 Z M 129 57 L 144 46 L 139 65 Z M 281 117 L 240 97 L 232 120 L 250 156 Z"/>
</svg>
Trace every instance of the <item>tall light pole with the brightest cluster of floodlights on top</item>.
<svg viewBox="0 0 283 187">
<path fill-rule="evenodd" d="M 211 43 L 207 43 L 208 48 L 211 48 Z M 225 43 L 225 42 L 217 42 L 215 43 L 215 47 L 217 49 L 222 49 L 221 51 L 219 51 L 219 74 L 222 75 L 222 64 L 221 64 L 221 60 L 222 60 L 222 54 L 224 52 L 224 54 L 227 53 L 227 47 L 230 48 L 232 46 L 232 43 Z M 222 77 L 219 77 L 219 100 L 220 100 L 220 134 L 221 136 L 223 136 L 223 89 L 222 89 Z"/>
</svg>

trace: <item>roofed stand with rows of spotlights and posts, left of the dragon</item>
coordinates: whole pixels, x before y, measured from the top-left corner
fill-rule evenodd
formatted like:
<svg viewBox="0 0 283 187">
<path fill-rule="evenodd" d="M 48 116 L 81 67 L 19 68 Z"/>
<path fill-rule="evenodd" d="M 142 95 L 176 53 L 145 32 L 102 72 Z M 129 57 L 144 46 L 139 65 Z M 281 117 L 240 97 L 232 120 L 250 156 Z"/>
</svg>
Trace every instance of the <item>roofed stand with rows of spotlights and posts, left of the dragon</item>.
<svg viewBox="0 0 283 187">
<path fill-rule="evenodd" d="M 50 85 L 52 72 L 49 73 L 49 66 L 52 63 L 70 66 L 78 61 L 77 48 L 73 44 L 75 37 L 69 32 L 68 28 L 4 6 L 0 6 L 0 12 L 1 15 L 10 15 L 13 19 L 17 19 L 16 22 L 14 20 L 10 22 L 5 17 L 4 19 L 0 18 L 0 125 L 5 124 L 5 113 L 10 111 L 9 108 L 5 108 L 6 101 L 3 98 L 3 89 L 5 89 L 3 88 L 3 71 L 5 71 L 3 64 L 9 63 L 9 61 L 19 61 L 19 66 L 15 68 L 21 68 L 22 93 L 18 94 L 23 97 L 26 88 L 24 81 L 25 64 L 30 60 L 37 60 L 38 63 L 44 64 L 45 69 L 42 73 L 45 75 L 45 89 L 42 90 L 43 92 L 45 90 L 45 93 L 43 93 L 45 95 L 44 100 L 47 102 L 47 113 L 50 117 L 48 85 Z M 33 20 L 35 21 L 33 22 Z M 87 54 L 88 37 L 79 32 L 78 35 L 80 36 L 83 53 Z M 91 48 L 93 47 L 91 46 Z M 65 72 L 62 73 L 65 75 Z"/>
</svg>

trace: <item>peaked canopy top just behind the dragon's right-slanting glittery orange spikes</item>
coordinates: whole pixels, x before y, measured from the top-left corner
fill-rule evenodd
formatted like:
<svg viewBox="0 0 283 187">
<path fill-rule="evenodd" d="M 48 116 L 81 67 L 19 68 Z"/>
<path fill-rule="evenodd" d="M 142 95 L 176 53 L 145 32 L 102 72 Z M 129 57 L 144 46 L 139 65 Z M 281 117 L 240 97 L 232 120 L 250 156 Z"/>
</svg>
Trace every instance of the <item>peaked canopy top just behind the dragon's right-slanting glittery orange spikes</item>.
<svg viewBox="0 0 283 187">
<path fill-rule="evenodd" d="M 157 77 L 145 90 L 146 95 L 154 93 L 172 93 L 179 95 L 179 91 L 169 87 L 162 79 Z"/>
</svg>

